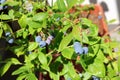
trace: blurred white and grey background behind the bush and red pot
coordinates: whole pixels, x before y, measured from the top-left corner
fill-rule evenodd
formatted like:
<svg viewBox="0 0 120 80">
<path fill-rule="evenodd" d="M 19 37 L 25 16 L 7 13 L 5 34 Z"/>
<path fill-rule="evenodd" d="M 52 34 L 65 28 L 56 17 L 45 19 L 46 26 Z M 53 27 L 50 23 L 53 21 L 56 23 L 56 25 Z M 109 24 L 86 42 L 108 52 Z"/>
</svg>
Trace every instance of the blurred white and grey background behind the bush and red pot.
<svg viewBox="0 0 120 80">
<path fill-rule="evenodd" d="M 56 0 L 48 1 L 52 5 L 52 1 L 54 3 Z M 120 0 L 84 0 L 82 4 L 100 4 L 104 10 L 111 39 L 120 41 Z"/>
</svg>

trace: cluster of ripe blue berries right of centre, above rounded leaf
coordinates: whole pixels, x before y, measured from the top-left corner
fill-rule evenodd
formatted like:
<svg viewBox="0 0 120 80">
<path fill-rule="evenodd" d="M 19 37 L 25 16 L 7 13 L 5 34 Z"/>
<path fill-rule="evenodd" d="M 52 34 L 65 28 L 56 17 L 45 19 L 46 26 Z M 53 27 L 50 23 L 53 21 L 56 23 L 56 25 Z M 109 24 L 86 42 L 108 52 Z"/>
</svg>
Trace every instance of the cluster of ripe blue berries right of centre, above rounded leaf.
<svg viewBox="0 0 120 80">
<path fill-rule="evenodd" d="M 74 42 L 73 47 L 77 54 L 87 54 L 88 53 L 88 47 L 82 47 L 82 45 L 79 42 Z"/>
</svg>

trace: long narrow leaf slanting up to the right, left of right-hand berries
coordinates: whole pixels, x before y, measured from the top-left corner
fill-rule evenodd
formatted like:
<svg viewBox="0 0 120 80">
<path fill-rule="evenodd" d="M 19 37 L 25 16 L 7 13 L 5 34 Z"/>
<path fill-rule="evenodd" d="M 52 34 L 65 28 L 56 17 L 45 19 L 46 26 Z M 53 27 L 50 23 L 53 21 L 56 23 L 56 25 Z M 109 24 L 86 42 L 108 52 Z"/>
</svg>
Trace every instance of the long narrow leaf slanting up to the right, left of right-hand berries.
<svg viewBox="0 0 120 80">
<path fill-rule="evenodd" d="M 70 33 L 70 34 L 68 34 L 67 36 L 65 36 L 65 37 L 62 39 L 62 41 L 61 41 L 61 43 L 60 43 L 60 45 L 59 45 L 58 51 L 60 52 L 60 51 L 62 51 L 64 48 L 66 48 L 67 45 L 71 42 L 72 39 L 73 39 L 72 33 Z"/>
</svg>

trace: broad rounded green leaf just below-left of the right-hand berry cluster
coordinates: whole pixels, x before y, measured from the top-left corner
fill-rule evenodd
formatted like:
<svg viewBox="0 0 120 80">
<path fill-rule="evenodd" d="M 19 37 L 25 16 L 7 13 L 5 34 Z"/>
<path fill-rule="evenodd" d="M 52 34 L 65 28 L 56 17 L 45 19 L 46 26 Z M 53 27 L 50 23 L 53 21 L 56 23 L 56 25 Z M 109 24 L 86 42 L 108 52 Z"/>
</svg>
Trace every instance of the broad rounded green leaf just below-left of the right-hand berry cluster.
<svg viewBox="0 0 120 80">
<path fill-rule="evenodd" d="M 62 51 L 62 55 L 65 58 L 68 58 L 68 59 L 71 59 L 73 54 L 74 54 L 74 49 L 73 48 L 68 47 L 68 48 L 63 49 L 63 51 Z"/>
</svg>

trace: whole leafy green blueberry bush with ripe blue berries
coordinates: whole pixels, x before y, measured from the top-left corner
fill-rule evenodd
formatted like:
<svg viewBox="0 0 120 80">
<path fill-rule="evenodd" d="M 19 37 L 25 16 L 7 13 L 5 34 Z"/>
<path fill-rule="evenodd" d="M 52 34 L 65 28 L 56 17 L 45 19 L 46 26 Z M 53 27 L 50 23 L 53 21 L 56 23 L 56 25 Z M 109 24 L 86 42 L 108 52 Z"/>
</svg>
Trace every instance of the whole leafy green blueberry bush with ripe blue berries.
<svg viewBox="0 0 120 80">
<path fill-rule="evenodd" d="M 91 9 L 80 8 L 82 2 L 57 0 L 49 6 L 45 0 L 3 1 L 0 9 L 6 6 L 8 12 L 0 15 L 0 38 L 16 57 L 0 61 L 0 76 L 18 65 L 11 74 L 16 80 L 119 80 L 118 43 L 105 42 L 108 36 L 98 36 L 98 27 L 79 16 Z M 70 13 L 73 6 L 78 11 Z M 9 25 L 14 21 L 17 30 Z"/>
</svg>

